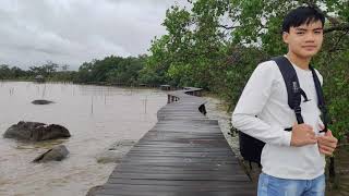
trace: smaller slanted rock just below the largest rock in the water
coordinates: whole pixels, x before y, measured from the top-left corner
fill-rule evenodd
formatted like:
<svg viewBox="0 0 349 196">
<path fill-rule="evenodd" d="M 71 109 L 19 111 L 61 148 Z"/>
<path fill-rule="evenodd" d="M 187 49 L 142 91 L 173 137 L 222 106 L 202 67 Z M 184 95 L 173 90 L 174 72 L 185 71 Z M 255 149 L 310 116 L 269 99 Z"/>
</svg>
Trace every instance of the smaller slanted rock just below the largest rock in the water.
<svg viewBox="0 0 349 196">
<path fill-rule="evenodd" d="M 35 158 L 33 162 L 61 161 L 68 155 L 69 150 L 67 149 L 67 147 L 64 145 L 59 145 Z"/>
</svg>

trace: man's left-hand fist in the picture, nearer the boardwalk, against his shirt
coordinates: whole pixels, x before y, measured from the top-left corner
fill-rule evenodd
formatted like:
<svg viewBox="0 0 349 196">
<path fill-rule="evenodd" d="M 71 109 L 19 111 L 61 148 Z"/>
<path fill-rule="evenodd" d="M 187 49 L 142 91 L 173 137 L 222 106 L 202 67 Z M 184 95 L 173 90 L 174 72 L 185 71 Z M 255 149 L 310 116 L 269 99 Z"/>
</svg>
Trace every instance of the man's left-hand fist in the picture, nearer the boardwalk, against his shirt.
<svg viewBox="0 0 349 196">
<path fill-rule="evenodd" d="M 292 126 L 291 146 L 300 147 L 316 143 L 317 139 L 311 125 L 294 123 Z"/>
</svg>

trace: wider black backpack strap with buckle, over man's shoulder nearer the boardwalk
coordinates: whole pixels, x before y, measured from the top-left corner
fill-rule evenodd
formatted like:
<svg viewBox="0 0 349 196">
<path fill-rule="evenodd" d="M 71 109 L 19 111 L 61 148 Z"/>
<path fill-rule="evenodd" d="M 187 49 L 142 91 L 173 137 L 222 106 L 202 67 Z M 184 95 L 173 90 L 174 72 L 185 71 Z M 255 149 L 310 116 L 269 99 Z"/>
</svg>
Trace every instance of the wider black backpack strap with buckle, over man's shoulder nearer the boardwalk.
<svg viewBox="0 0 349 196">
<path fill-rule="evenodd" d="M 288 106 L 294 111 L 297 122 L 299 124 L 304 123 L 303 117 L 301 114 L 301 94 L 302 89 L 300 88 L 298 76 L 296 73 L 294 68 L 292 66 L 291 62 L 286 57 L 276 57 L 273 58 L 276 62 L 277 66 L 279 68 L 285 84 L 287 88 L 288 95 Z M 308 100 L 306 96 L 304 97 Z"/>
</svg>

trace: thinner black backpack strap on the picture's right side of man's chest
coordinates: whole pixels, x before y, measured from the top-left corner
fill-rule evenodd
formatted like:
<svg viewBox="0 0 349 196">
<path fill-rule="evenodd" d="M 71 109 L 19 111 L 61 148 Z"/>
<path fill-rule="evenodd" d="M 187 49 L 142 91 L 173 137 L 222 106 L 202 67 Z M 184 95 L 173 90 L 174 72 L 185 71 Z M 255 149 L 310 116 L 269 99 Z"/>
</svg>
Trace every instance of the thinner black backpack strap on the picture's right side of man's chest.
<svg viewBox="0 0 349 196">
<path fill-rule="evenodd" d="M 315 69 L 313 66 L 309 66 L 309 69 L 312 71 L 313 74 L 313 79 L 314 79 L 314 84 L 315 84 L 315 89 L 316 89 L 316 95 L 317 95 L 317 107 L 322 112 L 322 121 L 324 123 L 324 130 L 320 131 L 320 133 L 322 132 L 327 132 L 327 109 L 326 109 L 326 105 L 325 105 L 325 99 L 324 99 L 324 93 L 323 93 L 323 88 L 321 87 L 321 83 L 320 79 L 317 77 L 317 74 L 315 72 Z"/>
</svg>

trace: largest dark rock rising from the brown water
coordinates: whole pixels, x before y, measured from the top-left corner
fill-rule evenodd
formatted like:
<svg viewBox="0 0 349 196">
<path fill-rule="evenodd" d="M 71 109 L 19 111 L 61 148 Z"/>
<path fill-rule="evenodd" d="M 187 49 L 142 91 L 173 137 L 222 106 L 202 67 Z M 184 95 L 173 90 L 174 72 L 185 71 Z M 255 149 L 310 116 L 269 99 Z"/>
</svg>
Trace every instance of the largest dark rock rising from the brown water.
<svg viewBox="0 0 349 196">
<path fill-rule="evenodd" d="M 70 133 L 65 127 L 58 124 L 47 125 L 39 122 L 20 121 L 17 124 L 9 127 L 3 134 L 3 137 L 39 142 L 46 139 L 70 137 Z"/>
</svg>

